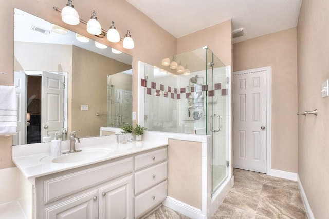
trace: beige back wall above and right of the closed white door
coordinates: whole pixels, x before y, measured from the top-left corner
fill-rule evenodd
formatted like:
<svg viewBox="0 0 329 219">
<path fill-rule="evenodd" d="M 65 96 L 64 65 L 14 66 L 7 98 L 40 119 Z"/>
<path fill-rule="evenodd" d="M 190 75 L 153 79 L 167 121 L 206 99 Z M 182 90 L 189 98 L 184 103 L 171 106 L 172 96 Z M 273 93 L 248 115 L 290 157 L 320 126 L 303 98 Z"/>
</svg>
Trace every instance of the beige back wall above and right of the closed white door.
<svg viewBox="0 0 329 219">
<path fill-rule="evenodd" d="M 233 71 L 265 66 L 272 73 L 271 168 L 297 173 L 296 28 L 233 44 Z"/>
</svg>

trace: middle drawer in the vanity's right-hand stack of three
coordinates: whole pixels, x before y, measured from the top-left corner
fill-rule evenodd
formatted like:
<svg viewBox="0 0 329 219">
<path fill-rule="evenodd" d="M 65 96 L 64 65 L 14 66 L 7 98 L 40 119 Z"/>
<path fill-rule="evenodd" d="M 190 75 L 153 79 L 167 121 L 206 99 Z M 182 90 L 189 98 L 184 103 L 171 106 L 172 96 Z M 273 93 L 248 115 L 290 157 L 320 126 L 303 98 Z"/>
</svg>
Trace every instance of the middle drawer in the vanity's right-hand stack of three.
<svg viewBox="0 0 329 219">
<path fill-rule="evenodd" d="M 167 161 L 135 173 L 135 194 L 167 179 Z"/>
</svg>

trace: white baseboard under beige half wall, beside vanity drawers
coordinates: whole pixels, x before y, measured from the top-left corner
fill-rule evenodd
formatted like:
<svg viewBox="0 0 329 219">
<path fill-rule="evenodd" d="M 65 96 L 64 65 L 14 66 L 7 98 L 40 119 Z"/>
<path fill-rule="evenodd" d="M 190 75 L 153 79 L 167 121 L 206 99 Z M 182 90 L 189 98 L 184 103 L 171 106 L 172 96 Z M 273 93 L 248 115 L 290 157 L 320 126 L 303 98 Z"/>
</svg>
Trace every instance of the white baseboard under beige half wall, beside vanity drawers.
<svg viewBox="0 0 329 219">
<path fill-rule="evenodd" d="M 167 196 L 166 200 L 162 204 L 174 211 L 177 211 L 185 216 L 195 219 L 205 219 L 206 216 L 201 213 L 201 210 L 190 206 L 184 202 L 180 202 L 175 198 Z"/>
</svg>

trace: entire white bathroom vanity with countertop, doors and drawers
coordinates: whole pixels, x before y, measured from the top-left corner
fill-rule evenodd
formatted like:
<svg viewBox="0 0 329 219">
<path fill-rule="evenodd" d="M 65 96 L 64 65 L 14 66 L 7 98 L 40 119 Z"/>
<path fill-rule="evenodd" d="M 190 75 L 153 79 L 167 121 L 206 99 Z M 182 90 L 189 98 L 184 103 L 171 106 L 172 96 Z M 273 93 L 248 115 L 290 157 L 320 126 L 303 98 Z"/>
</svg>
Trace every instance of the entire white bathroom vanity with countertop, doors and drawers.
<svg viewBox="0 0 329 219">
<path fill-rule="evenodd" d="M 13 162 L 31 182 L 31 218 L 140 218 L 165 200 L 168 140 L 90 139 L 77 145 L 82 153 L 60 157 L 49 156 L 47 143 L 13 146 Z"/>
</svg>

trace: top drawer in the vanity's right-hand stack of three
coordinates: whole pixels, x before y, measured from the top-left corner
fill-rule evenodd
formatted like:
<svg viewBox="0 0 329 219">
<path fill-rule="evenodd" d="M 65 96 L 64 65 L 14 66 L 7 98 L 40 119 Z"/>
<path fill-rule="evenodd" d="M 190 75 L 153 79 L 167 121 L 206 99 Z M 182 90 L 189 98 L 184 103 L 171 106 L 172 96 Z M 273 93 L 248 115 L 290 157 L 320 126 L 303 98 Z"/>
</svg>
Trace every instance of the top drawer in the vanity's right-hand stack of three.
<svg viewBox="0 0 329 219">
<path fill-rule="evenodd" d="M 167 160 L 167 148 L 135 156 L 135 170 Z"/>
</svg>

